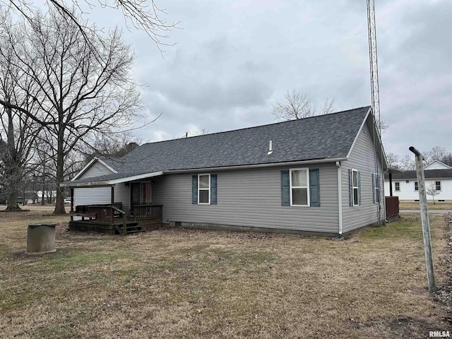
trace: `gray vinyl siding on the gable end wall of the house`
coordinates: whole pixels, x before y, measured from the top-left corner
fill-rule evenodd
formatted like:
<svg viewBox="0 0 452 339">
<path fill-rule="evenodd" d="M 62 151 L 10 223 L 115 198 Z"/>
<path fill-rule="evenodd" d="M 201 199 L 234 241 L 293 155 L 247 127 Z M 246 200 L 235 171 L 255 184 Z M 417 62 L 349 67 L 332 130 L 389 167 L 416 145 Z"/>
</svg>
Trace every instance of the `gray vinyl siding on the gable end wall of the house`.
<svg viewBox="0 0 452 339">
<path fill-rule="evenodd" d="M 365 132 L 360 131 L 357 142 L 352 148 L 350 157 L 341 164 L 341 180 L 343 187 L 343 232 L 349 232 L 359 227 L 374 224 L 378 222 L 378 203 L 374 203 L 372 192 L 372 173 L 376 173 L 376 163 L 378 163 L 379 174 L 381 172 L 381 163 L 376 159 L 374 152 L 374 143 L 371 138 L 371 129 Z M 361 172 L 361 206 L 350 206 L 350 190 L 348 170 L 357 169 Z M 380 180 L 380 202 L 381 202 L 381 220 L 384 217 L 384 194 L 383 194 L 383 175 Z"/>
</svg>

